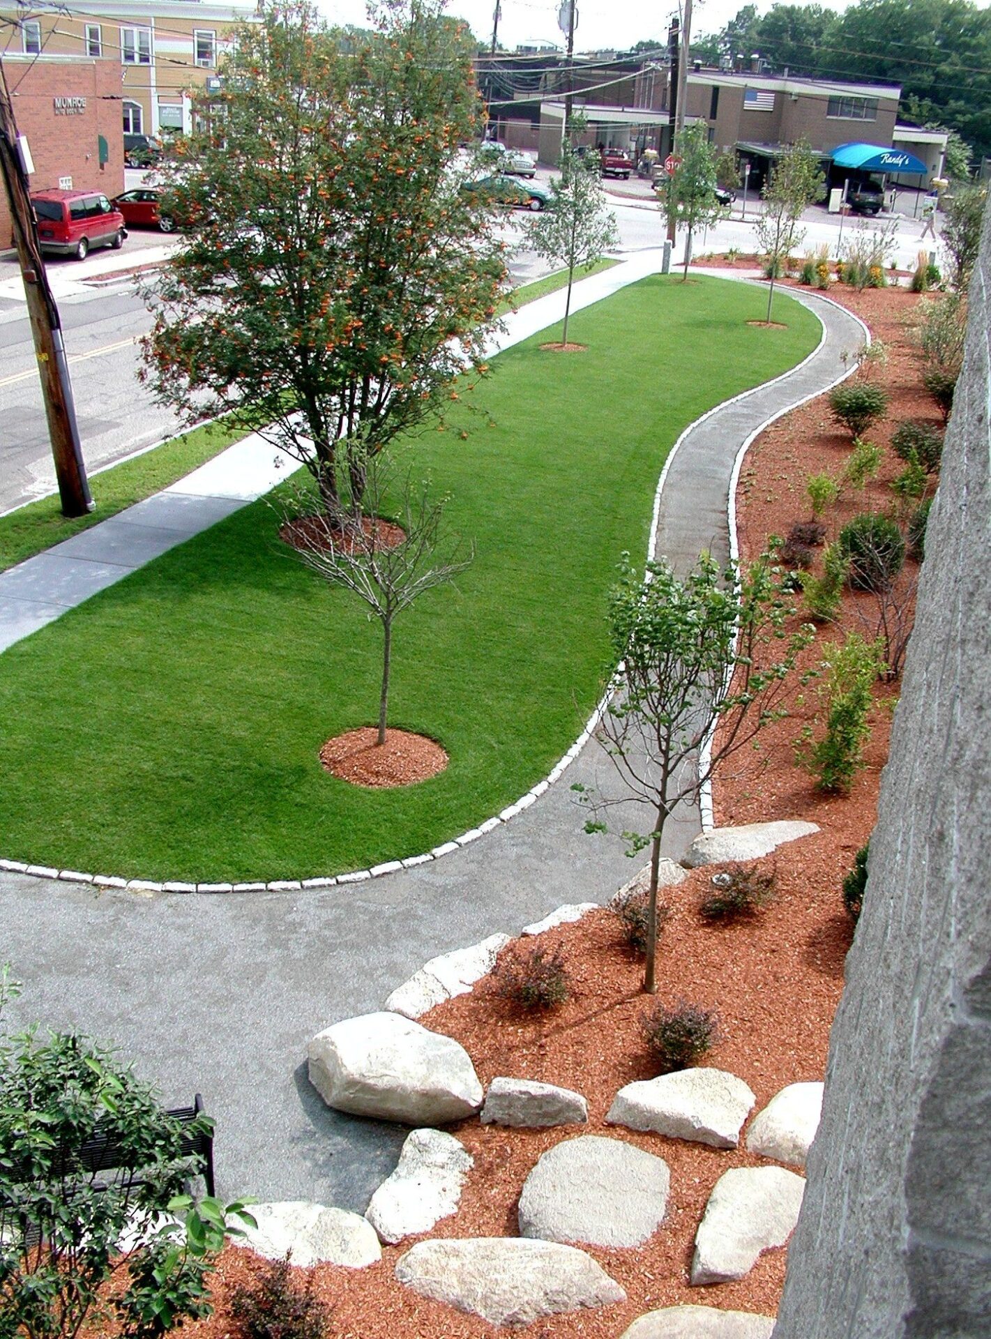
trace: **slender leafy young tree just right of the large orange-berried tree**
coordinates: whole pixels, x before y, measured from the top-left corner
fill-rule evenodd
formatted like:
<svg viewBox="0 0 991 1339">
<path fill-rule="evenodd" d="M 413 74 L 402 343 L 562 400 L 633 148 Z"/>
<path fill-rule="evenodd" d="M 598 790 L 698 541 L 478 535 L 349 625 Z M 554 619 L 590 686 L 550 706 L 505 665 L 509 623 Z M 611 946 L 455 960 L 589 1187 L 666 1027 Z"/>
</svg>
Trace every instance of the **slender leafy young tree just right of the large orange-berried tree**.
<svg viewBox="0 0 991 1339">
<path fill-rule="evenodd" d="M 550 183 L 549 208 L 537 214 L 529 228 L 529 241 L 537 254 L 552 264 L 568 266 L 561 335 L 561 343 L 565 345 L 575 270 L 580 266 L 589 269 L 619 242 L 616 218 L 605 204 L 597 166 L 597 161 L 589 162 L 565 145 L 561 175 Z"/>
</svg>

